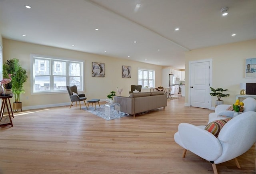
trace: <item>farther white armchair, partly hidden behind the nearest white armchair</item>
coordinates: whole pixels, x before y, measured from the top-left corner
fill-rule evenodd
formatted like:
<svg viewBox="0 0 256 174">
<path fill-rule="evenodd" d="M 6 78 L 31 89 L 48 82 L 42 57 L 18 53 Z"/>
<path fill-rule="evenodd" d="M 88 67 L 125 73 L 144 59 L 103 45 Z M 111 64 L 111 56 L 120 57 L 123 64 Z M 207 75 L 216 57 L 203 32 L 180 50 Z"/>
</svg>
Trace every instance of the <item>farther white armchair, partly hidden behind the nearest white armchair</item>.
<svg viewBox="0 0 256 174">
<path fill-rule="evenodd" d="M 243 112 L 248 112 L 248 111 L 256 112 L 256 100 L 254 98 L 246 98 L 246 99 L 244 99 L 243 103 L 244 103 L 244 111 Z M 226 111 L 226 109 L 228 109 L 228 107 L 230 107 L 230 106 L 232 106 L 232 105 L 216 106 L 215 112 L 209 114 L 208 123 L 215 121 L 215 120 L 228 118 L 228 117 L 221 116 L 221 115 L 227 115 L 227 116 L 231 117 L 234 114 L 234 111 Z"/>
</svg>

